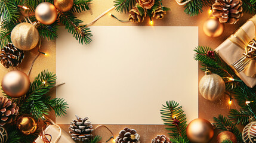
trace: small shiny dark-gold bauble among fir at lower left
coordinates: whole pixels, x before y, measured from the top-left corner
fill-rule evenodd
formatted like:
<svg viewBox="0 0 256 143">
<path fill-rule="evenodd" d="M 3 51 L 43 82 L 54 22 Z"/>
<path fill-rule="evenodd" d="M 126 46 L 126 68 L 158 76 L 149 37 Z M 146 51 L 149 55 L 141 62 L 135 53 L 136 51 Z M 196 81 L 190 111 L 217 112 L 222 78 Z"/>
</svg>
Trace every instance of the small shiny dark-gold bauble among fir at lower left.
<svg viewBox="0 0 256 143">
<path fill-rule="evenodd" d="M 36 120 L 32 116 L 23 115 L 17 119 L 17 127 L 20 132 L 30 135 L 36 131 L 38 123 L 36 123 Z"/>
</svg>

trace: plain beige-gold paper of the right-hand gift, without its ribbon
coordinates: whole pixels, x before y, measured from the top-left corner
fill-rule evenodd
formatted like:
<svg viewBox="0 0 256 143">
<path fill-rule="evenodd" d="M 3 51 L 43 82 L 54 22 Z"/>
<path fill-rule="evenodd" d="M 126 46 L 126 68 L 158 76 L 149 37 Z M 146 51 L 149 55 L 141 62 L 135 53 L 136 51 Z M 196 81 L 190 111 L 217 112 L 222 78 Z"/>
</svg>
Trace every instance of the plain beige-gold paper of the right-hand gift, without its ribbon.
<svg viewBox="0 0 256 143">
<path fill-rule="evenodd" d="M 256 23 L 256 15 L 252 17 L 250 20 L 248 20 L 245 24 L 243 24 L 240 29 L 235 33 L 236 36 L 239 37 L 244 37 L 245 33 L 246 36 L 249 37 L 249 39 L 254 39 L 255 38 L 255 24 Z M 243 31 L 243 32 L 241 32 Z M 226 39 L 223 43 L 221 43 L 220 46 L 218 46 L 215 51 L 218 52 L 220 57 L 230 66 L 233 63 L 235 63 L 237 60 L 239 60 L 242 56 L 243 53 L 245 52 L 244 48 L 241 48 L 238 44 L 235 42 L 232 42 L 232 36 L 230 38 Z M 256 66 L 256 65 L 250 65 L 250 66 Z M 256 73 L 256 71 L 255 71 Z M 256 85 L 256 78 L 251 77 L 251 76 L 246 76 L 244 71 L 241 71 L 238 73 L 238 76 L 240 79 L 245 82 L 247 86 L 250 88 L 254 87 Z"/>
</svg>

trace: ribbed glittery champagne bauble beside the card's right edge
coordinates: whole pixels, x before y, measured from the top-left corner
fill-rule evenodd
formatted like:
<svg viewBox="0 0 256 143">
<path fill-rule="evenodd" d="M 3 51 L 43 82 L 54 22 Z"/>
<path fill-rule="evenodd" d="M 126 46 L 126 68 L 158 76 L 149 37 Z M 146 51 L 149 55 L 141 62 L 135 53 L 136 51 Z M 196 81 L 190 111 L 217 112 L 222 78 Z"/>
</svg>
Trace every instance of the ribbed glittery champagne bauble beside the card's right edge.
<svg viewBox="0 0 256 143">
<path fill-rule="evenodd" d="M 205 71 L 205 76 L 199 82 L 199 92 L 206 100 L 218 100 L 224 95 L 226 86 L 224 80 L 218 74 Z"/>
</svg>

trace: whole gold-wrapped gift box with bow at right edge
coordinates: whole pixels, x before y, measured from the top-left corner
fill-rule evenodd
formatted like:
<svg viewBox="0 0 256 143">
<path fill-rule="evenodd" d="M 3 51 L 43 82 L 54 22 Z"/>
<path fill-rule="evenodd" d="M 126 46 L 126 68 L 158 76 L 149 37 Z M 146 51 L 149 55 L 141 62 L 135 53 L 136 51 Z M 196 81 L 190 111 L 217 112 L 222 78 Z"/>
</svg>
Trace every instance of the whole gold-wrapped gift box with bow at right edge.
<svg viewBox="0 0 256 143">
<path fill-rule="evenodd" d="M 250 88 L 256 85 L 256 60 L 254 60 L 255 57 L 245 58 L 244 60 L 241 60 L 241 58 L 248 56 L 250 50 L 255 52 L 254 49 L 248 46 L 249 42 L 252 42 L 256 37 L 255 27 L 256 15 L 215 49 L 230 67 L 236 69 L 235 71 L 237 71 L 236 73 L 240 79 Z"/>
</svg>

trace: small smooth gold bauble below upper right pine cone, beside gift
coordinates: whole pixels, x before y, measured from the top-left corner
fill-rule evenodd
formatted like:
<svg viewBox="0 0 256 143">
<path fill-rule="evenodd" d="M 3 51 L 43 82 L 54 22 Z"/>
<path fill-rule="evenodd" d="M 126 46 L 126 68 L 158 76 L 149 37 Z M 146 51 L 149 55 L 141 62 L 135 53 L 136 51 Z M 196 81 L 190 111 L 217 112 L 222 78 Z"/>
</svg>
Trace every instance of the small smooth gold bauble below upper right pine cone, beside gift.
<svg viewBox="0 0 256 143">
<path fill-rule="evenodd" d="M 224 24 L 218 18 L 210 17 L 203 23 L 203 32 L 209 37 L 217 38 L 224 32 Z"/>
</svg>

